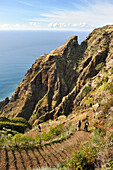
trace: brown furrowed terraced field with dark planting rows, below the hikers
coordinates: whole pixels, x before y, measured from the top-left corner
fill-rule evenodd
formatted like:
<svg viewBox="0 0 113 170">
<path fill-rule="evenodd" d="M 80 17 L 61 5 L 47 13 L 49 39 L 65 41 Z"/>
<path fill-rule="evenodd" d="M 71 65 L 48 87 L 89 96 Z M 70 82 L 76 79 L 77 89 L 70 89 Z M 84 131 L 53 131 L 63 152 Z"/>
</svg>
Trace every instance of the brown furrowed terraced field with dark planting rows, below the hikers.
<svg viewBox="0 0 113 170">
<path fill-rule="evenodd" d="M 0 150 L 0 170 L 31 170 L 40 167 L 57 167 L 71 157 L 75 148 L 89 140 L 89 133 L 75 132 L 70 138 L 49 145 L 34 148 L 2 148 Z"/>
</svg>

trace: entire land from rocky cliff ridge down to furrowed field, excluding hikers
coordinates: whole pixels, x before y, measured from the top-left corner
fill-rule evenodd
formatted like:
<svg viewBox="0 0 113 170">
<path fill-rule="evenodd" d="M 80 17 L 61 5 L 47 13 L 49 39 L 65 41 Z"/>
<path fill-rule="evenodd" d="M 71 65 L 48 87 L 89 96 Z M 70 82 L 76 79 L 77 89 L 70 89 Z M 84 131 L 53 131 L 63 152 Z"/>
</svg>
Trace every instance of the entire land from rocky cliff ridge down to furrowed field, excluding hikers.
<svg viewBox="0 0 113 170">
<path fill-rule="evenodd" d="M 113 26 L 40 56 L 0 116 L 2 170 L 113 169 Z"/>
</svg>

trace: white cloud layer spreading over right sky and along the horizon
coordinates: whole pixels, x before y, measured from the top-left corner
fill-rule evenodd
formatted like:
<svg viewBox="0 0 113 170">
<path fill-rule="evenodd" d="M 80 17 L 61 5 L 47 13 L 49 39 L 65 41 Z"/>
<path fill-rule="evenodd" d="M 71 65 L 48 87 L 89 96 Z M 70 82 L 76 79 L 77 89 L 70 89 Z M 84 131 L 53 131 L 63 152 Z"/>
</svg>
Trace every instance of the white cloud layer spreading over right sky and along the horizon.
<svg viewBox="0 0 113 170">
<path fill-rule="evenodd" d="M 16 0 L 18 3 L 34 7 L 33 2 Z M 71 3 L 71 9 L 58 9 L 37 14 L 39 17 L 27 18 L 24 24 L 1 24 L 0 30 L 38 30 L 38 29 L 67 29 L 67 30 L 92 30 L 95 27 L 113 24 L 113 2 L 111 0 L 80 0 L 82 3 Z M 74 2 L 74 1 L 73 1 Z M 76 2 L 76 1 L 75 1 Z M 75 9 L 74 9 L 75 8 Z M 51 7 L 47 11 L 51 10 Z M 36 14 L 36 13 L 35 13 Z"/>
</svg>

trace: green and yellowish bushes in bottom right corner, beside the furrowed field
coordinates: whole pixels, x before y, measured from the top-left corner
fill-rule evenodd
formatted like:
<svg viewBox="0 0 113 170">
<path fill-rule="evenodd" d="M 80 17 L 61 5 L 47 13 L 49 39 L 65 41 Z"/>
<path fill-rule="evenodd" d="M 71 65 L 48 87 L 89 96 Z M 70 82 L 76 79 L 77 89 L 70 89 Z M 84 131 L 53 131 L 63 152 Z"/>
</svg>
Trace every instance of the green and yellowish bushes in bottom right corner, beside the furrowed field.
<svg viewBox="0 0 113 170">
<path fill-rule="evenodd" d="M 106 138 L 104 138 L 105 136 Z M 98 169 L 98 163 L 106 159 L 104 169 L 113 169 L 112 140 L 112 134 L 106 135 L 104 129 L 97 128 L 94 130 L 91 141 L 80 146 L 79 151 L 75 149 L 72 157 L 67 159 L 64 166 L 73 170 L 89 170 L 95 169 L 95 167 Z"/>
</svg>

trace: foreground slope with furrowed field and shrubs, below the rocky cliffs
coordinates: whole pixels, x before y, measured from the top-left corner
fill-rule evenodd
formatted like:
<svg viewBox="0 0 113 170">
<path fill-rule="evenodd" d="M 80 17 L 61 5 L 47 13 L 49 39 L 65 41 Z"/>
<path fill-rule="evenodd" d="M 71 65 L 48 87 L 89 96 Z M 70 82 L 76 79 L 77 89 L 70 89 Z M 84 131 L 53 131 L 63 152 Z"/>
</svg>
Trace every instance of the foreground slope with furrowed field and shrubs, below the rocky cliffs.
<svg viewBox="0 0 113 170">
<path fill-rule="evenodd" d="M 25 134 L 0 138 L 0 169 L 112 169 L 113 119 L 99 117 L 92 108 L 41 124 Z M 81 119 L 81 130 L 76 122 Z M 88 132 L 84 121 L 88 119 Z M 107 123 L 107 124 L 106 124 Z M 16 142 L 15 142 L 16 141 Z"/>
</svg>

